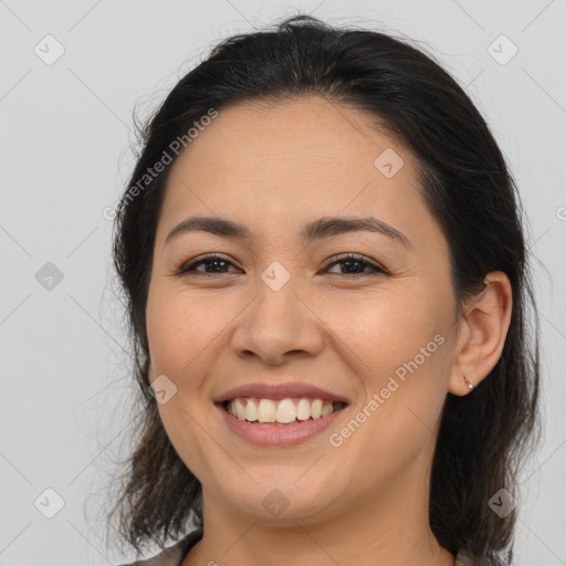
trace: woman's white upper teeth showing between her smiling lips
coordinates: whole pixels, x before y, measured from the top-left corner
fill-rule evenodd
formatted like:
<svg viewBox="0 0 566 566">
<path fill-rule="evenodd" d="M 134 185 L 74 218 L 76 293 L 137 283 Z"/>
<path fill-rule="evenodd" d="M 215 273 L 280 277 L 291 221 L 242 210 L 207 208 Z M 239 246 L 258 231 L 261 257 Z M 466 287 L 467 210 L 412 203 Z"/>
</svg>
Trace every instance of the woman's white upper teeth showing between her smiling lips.
<svg viewBox="0 0 566 566">
<path fill-rule="evenodd" d="M 273 401 L 271 399 L 235 398 L 228 403 L 228 412 L 240 420 L 250 422 L 281 422 L 308 418 L 319 419 L 332 415 L 340 403 L 323 402 L 322 399 L 300 399 L 295 405 L 293 399 Z"/>
</svg>

